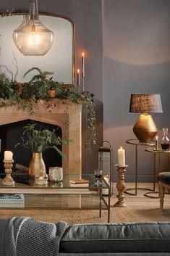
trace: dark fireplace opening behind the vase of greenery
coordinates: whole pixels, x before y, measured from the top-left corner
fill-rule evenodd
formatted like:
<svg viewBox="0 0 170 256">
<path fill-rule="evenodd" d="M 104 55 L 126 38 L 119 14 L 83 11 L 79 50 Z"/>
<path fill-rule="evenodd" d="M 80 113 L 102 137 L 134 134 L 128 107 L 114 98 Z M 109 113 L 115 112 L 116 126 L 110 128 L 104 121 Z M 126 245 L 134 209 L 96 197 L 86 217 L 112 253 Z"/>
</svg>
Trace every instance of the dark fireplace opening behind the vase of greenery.
<svg viewBox="0 0 170 256">
<path fill-rule="evenodd" d="M 0 154 L 0 173 L 4 173 L 4 151 L 10 150 L 13 152 L 14 166 L 16 164 L 24 165 L 28 167 L 32 152 L 29 149 L 24 149 L 21 145 L 15 147 L 20 142 L 20 137 L 24 131 L 23 127 L 28 123 L 37 123 L 43 129 L 49 129 L 50 131 L 55 130 L 56 135 L 62 137 L 61 128 L 57 125 L 51 125 L 33 120 L 22 120 L 15 123 L 9 123 L 7 125 L 0 125 L 0 139 L 1 139 L 1 154 Z M 62 146 L 58 146 L 62 150 Z M 46 172 L 51 166 L 62 167 L 61 155 L 56 152 L 55 149 L 47 149 L 43 152 L 43 160 L 46 164 Z"/>
</svg>

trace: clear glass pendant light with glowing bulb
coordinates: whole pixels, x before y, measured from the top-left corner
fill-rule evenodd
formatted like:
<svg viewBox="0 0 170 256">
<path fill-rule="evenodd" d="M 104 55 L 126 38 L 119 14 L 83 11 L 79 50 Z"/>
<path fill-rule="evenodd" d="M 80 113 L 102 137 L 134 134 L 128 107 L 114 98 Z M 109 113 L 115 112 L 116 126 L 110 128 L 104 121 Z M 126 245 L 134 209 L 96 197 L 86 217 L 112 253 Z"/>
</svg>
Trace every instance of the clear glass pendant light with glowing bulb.
<svg viewBox="0 0 170 256">
<path fill-rule="evenodd" d="M 38 17 L 38 0 L 30 0 L 29 19 L 22 20 L 13 32 L 14 44 L 25 56 L 45 55 L 54 41 L 54 33 L 48 30 Z"/>
</svg>

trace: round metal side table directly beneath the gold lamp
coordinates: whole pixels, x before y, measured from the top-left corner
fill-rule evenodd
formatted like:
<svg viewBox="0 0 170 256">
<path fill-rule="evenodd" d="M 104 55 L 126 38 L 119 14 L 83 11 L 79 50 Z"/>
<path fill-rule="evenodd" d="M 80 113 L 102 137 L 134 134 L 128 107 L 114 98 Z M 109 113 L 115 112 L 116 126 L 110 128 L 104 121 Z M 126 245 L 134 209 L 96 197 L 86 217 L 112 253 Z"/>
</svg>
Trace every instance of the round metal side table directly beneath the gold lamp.
<svg viewBox="0 0 170 256">
<path fill-rule="evenodd" d="M 138 181 L 137 181 L 137 179 L 138 179 L 138 146 L 155 146 L 156 144 L 155 144 L 155 141 L 146 143 L 146 142 L 140 142 L 137 139 L 127 139 L 126 143 L 135 146 L 135 188 L 125 189 L 124 193 L 130 194 L 132 196 L 137 196 L 137 189 L 145 189 L 145 188 L 137 187 L 137 183 L 138 183 Z M 154 191 L 154 189 L 155 189 L 155 187 L 153 184 L 153 189 L 147 189 L 147 190 Z M 131 190 L 135 190 L 135 193 L 129 192 Z"/>
</svg>

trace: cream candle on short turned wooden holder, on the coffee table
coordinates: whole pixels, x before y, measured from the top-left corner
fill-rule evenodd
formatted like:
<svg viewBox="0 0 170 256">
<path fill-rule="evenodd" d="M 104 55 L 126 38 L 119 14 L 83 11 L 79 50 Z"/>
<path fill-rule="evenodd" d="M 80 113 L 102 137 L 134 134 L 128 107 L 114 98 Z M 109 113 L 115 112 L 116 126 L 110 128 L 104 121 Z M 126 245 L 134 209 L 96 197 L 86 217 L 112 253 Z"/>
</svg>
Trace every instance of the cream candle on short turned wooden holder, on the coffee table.
<svg viewBox="0 0 170 256">
<path fill-rule="evenodd" d="M 5 186 L 14 185 L 14 180 L 11 176 L 12 166 L 13 166 L 12 162 L 14 162 L 13 153 L 11 151 L 5 151 L 4 152 L 5 178 L 1 181 L 2 185 L 5 185 Z"/>
</svg>

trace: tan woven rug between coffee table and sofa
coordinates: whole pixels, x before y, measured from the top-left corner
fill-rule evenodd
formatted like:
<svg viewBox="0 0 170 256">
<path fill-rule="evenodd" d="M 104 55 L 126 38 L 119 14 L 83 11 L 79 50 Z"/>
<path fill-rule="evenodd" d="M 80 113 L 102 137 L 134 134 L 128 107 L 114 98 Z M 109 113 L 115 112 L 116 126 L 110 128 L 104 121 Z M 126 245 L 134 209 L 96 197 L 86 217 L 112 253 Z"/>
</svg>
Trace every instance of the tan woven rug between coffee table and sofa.
<svg viewBox="0 0 170 256">
<path fill-rule="evenodd" d="M 13 210 L 1 209 L 0 218 L 11 218 L 12 216 L 29 216 L 34 220 L 42 220 L 56 223 L 64 220 L 68 224 L 74 223 L 107 223 L 108 212 L 102 210 L 101 218 L 99 218 L 98 210 Z M 137 222 L 139 219 L 135 211 L 129 207 L 111 207 L 110 223 Z"/>
</svg>

